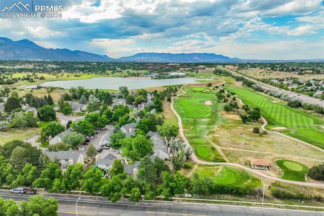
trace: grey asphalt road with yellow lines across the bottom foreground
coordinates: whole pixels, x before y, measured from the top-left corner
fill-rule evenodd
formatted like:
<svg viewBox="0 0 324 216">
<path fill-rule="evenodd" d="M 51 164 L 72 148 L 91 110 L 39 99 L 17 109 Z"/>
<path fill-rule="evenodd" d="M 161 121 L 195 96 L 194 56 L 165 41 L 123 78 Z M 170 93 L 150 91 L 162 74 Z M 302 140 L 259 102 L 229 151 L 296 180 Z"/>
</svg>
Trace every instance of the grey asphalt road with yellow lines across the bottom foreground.
<svg viewBox="0 0 324 216">
<path fill-rule="evenodd" d="M 27 200 L 29 195 L 10 194 L 0 191 L 0 197 L 14 199 L 18 203 Z M 78 215 L 286 215 L 306 216 L 324 215 L 314 211 L 287 210 L 275 208 L 259 208 L 245 206 L 229 206 L 203 203 L 171 203 L 171 202 L 138 202 L 136 204 L 121 201 L 111 203 L 103 198 L 78 195 L 45 195 L 46 198 L 54 197 L 59 201 L 59 215 L 76 215 L 75 203 L 77 203 Z"/>
</svg>

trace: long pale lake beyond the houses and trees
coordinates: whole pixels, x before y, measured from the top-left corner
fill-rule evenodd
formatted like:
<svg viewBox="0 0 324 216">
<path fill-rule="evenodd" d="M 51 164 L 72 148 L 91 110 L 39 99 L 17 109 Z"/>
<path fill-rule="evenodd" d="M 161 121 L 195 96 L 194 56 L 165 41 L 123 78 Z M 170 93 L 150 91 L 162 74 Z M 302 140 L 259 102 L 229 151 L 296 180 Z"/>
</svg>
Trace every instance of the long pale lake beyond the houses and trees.
<svg viewBox="0 0 324 216">
<path fill-rule="evenodd" d="M 94 77 L 91 79 L 84 80 L 62 80 L 62 81 L 51 81 L 39 84 L 39 86 L 44 87 L 61 87 L 61 88 L 71 88 L 77 86 L 83 86 L 86 89 L 111 89 L 118 90 L 119 86 L 127 86 L 128 89 L 141 89 L 148 87 L 157 86 L 170 86 L 170 85 L 181 85 L 188 83 L 197 83 L 196 78 L 174 78 L 174 79 L 132 79 L 132 78 L 122 78 L 122 77 Z M 206 80 L 206 79 L 204 79 Z M 35 88 L 37 85 L 29 85 L 27 88 Z"/>
</svg>

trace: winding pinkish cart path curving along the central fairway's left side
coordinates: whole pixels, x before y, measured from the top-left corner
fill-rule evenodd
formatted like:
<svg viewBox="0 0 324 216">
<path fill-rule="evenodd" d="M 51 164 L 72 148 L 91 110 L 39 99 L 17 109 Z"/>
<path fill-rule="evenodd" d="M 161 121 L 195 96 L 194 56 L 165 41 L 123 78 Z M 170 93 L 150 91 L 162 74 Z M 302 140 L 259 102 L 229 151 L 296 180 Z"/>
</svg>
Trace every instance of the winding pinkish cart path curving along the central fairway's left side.
<svg viewBox="0 0 324 216">
<path fill-rule="evenodd" d="M 222 84 L 222 83 L 221 83 Z M 220 85 L 220 84 L 219 84 Z M 186 85 L 184 85 L 186 86 Z M 180 90 L 182 91 L 182 93 L 178 94 L 177 96 L 174 96 L 171 98 L 171 110 L 172 112 L 177 116 L 178 118 L 178 125 L 179 125 L 179 132 L 180 132 L 180 136 L 181 138 L 183 139 L 183 141 L 186 143 L 186 145 L 192 149 L 192 147 L 190 146 L 187 138 L 185 137 L 184 135 L 184 132 L 183 132 L 183 127 L 182 127 L 182 121 L 181 121 L 181 118 L 179 116 L 179 114 L 175 111 L 174 107 L 173 107 L 173 104 L 174 104 L 174 98 L 176 97 L 179 97 L 183 94 L 185 94 L 186 92 L 182 89 L 184 86 L 182 86 L 180 88 Z M 193 149 L 192 149 L 193 150 Z M 303 185 L 303 186 L 312 186 L 312 187 L 324 187 L 324 183 L 308 183 L 308 182 L 297 182 L 297 181 L 291 181 L 291 180 L 287 180 L 287 179 L 281 179 L 281 178 L 277 178 L 277 177 L 274 177 L 274 176 L 270 176 L 270 175 L 267 175 L 267 174 L 264 174 L 262 172 L 259 172 L 255 169 L 251 169 L 249 167 L 246 167 L 246 166 L 243 166 L 243 165 L 240 165 L 240 164 L 236 164 L 236 163 L 230 163 L 230 162 L 207 162 L 207 161 L 202 161 L 200 159 L 198 159 L 196 157 L 196 155 L 194 154 L 194 151 L 192 151 L 192 154 L 191 154 L 191 159 L 196 162 L 196 163 L 199 163 L 199 164 L 206 164 L 206 165 L 228 165 L 228 166 L 235 166 L 235 167 L 239 167 L 241 169 L 245 169 L 247 171 L 250 171 L 250 172 L 253 172 L 254 174 L 257 174 L 259 176 L 262 176 L 262 177 L 265 177 L 265 178 L 268 178 L 268 179 L 272 179 L 274 181 L 278 181 L 278 182 L 284 182 L 284 183 L 290 183 L 290 184 L 295 184 L 295 185 Z"/>
</svg>

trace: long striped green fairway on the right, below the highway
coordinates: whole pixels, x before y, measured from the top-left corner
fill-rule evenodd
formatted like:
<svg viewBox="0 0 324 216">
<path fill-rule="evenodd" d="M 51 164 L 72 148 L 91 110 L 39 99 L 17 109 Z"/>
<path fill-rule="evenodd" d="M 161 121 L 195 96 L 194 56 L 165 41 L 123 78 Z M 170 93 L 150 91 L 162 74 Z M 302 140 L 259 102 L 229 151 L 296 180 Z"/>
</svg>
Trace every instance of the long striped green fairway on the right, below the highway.
<svg viewBox="0 0 324 216">
<path fill-rule="evenodd" d="M 287 127 L 280 131 L 324 149 L 324 121 L 319 117 L 293 109 L 277 98 L 247 88 L 228 88 L 251 107 L 260 107 L 261 115 L 267 120 L 267 129 Z M 273 102 L 274 100 L 279 102 Z"/>
</svg>

